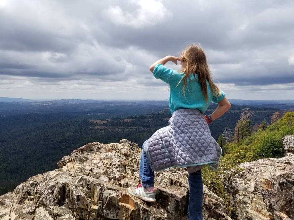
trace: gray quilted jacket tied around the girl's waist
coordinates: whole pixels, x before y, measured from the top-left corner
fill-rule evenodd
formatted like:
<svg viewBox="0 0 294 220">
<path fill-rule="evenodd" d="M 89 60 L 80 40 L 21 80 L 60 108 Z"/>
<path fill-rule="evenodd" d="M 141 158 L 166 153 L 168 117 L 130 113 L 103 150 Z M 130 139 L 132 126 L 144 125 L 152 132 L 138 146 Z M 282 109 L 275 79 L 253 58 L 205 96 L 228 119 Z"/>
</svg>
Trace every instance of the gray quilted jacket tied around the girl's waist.
<svg viewBox="0 0 294 220">
<path fill-rule="evenodd" d="M 178 166 L 195 172 L 204 164 L 217 170 L 222 149 L 198 109 L 178 109 L 168 122 L 144 145 L 152 171 Z"/>
</svg>

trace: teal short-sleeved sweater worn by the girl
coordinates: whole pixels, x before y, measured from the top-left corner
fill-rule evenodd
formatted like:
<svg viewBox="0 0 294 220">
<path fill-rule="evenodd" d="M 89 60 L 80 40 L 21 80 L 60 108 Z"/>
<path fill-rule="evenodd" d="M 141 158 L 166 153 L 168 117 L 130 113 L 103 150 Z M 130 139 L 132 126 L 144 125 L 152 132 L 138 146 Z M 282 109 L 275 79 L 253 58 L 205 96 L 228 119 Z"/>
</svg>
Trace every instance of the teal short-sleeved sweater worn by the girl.
<svg viewBox="0 0 294 220">
<path fill-rule="evenodd" d="M 181 80 L 184 73 L 168 69 L 162 64 L 158 64 L 153 70 L 153 75 L 156 79 L 161 79 L 170 85 L 169 107 L 172 114 L 174 111 L 183 108 L 199 109 L 202 114 L 204 114 L 211 101 L 218 103 L 225 97 L 225 93 L 223 91 L 220 91 L 221 94 L 212 94 L 210 85 L 206 80 L 208 90 L 208 102 L 206 102 L 201 89 L 201 84 L 193 77 L 192 73 L 190 80 L 187 79 L 188 89 L 185 88 L 185 96 L 183 93 L 183 80 Z M 197 78 L 197 74 L 195 74 L 195 76 Z"/>
</svg>

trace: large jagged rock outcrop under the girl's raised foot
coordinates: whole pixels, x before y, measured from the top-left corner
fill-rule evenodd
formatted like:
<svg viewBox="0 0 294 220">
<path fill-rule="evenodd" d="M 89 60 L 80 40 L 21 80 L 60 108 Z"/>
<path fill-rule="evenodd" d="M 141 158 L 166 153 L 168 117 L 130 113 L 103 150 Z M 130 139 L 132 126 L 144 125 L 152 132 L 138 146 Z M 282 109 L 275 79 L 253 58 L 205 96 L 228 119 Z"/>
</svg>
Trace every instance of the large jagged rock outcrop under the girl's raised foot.
<svg viewBox="0 0 294 220">
<path fill-rule="evenodd" d="M 78 148 L 58 162 L 59 169 L 31 177 L 0 196 L 0 219 L 181 219 L 189 197 L 185 169 L 156 172 L 154 203 L 128 194 L 127 188 L 140 181 L 140 155 L 138 145 L 127 140 Z M 205 186 L 203 211 L 204 219 L 230 219 L 224 201 Z"/>
</svg>

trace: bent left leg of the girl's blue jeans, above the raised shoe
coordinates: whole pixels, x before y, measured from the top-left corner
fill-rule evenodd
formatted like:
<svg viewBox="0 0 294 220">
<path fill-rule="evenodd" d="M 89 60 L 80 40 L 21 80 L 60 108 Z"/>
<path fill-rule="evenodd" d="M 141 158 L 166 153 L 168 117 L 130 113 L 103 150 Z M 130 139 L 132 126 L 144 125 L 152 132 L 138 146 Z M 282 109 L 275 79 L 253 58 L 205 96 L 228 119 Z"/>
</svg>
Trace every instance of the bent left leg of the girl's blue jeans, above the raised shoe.
<svg viewBox="0 0 294 220">
<path fill-rule="evenodd" d="M 142 151 L 142 154 L 141 154 L 139 175 L 140 175 L 140 178 L 142 180 L 142 186 L 153 187 L 154 186 L 155 174 L 151 170 L 151 167 L 150 167 L 150 165 L 148 163 L 148 160 L 146 158 L 146 154 L 144 152 L 145 143 L 146 143 L 146 141 L 143 143 L 143 151 Z"/>
</svg>

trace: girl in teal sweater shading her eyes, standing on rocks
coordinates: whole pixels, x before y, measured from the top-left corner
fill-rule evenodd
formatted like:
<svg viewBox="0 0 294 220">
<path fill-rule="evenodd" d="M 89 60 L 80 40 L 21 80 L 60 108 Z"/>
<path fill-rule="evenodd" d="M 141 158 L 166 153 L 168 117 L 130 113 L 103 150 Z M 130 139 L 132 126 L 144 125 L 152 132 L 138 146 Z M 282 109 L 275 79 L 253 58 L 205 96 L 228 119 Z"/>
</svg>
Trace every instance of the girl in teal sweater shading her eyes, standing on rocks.
<svg viewBox="0 0 294 220">
<path fill-rule="evenodd" d="M 166 68 L 168 61 L 175 64 L 181 61 L 182 70 Z M 221 155 L 208 123 L 223 115 L 230 108 L 230 102 L 213 83 L 206 55 L 198 45 L 189 45 L 180 57 L 166 56 L 149 69 L 155 78 L 170 86 L 169 106 L 173 116 L 169 126 L 159 129 L 144 142 L 139 172 L 142 183 L 136 188 L 129 187 L 128 192 L 144 201 L 155 202 L 154 171 L 187 167 L 190 187 L 187 217 L 203 219 L 201 167 L 210 164 L 216 170 Z M 211 101 L 218 103 L 218 107 L 211 115 L 204 116 Z"/>
</svg>

